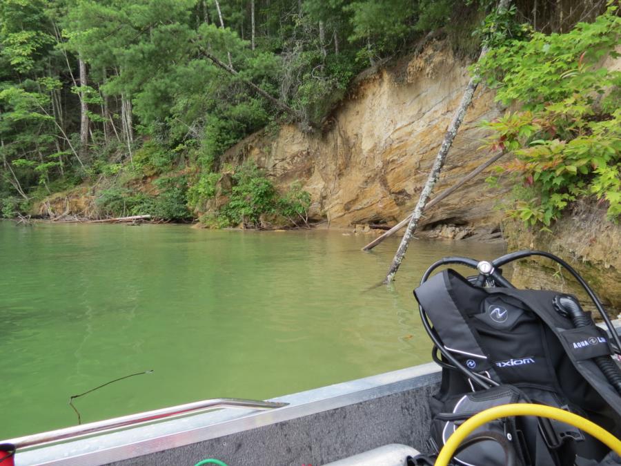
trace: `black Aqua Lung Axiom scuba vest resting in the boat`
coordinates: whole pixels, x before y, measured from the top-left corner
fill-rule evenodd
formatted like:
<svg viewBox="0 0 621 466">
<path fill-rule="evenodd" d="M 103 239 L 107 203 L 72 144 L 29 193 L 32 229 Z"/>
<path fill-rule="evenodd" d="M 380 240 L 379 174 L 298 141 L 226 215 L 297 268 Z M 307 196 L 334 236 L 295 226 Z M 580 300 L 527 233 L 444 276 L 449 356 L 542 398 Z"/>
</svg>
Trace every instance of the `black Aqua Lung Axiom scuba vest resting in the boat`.
<svg viewBox="0 0 621 466">
<path fill-rule="evenodd" d="M 521 257 L 526 252 L 537 254 L 523 251 Z M 459 263 L 449 259 L 446 263 Z M 435 356 L 442 382 L 431 400 L 432 455 L 464 420 L 511 402 L 566 409 L 621 435 L 621 371 L 610 358 L 613 345 L 578 300 L 554 291 L 515 289 L 499 271 L 480 275 L 475 284 L 451 269 L 425 281 L 430 273 L 414 293 L 442 353 L 442 360 Z M 504 286 L 497 287 L 498 282 Z M 504 465 L 507 447 L 515 450 L 515 464 L 524 466 L 621 464 L 598 440 L 558 421 L 516 417 L 478 429 L 483 430 L 500 434 L 508 445 L 475 443 L 458 452 L 453 464 Z"/>
</svg>

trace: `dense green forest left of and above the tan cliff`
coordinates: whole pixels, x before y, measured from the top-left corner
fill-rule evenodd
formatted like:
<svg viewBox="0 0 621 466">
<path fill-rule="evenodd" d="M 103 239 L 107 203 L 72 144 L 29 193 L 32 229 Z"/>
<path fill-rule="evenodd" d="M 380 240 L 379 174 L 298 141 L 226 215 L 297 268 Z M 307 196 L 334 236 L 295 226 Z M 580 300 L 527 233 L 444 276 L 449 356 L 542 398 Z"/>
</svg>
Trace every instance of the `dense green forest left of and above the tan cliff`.
<svg viewBox="0 0 621 466">
<path fill-rule="evenodd" d="M 464 3 L 256 0 L 254 46 L 248 2 L 219 6 L 224 27 L 213 1 L 0 0 L 2 198 L 88 182 L 107 186 L 103 215 L 186 220 L 186 205 L 201 211 L 213 196 L 228 148 L 266 126 L 320 126 L 368 64 L 444 26 Z M 203 175 L 189 191 L 184 180 L 141 193 L 175 171 Z M 238 176 L 229 222 L 306 217 L 303 196 L 287 204 L 262 175 L 255 184 Z"/>
</svg>

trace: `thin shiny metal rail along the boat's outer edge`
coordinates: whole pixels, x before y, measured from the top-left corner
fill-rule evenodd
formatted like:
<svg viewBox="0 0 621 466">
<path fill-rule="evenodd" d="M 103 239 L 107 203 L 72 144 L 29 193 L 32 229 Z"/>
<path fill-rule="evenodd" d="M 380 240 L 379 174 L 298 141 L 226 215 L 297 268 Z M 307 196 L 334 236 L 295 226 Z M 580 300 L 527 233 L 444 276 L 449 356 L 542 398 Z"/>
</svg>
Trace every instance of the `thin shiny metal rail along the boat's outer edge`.
<svg viewBox="0 0 621 466">
<path fill-rule="evenodd" d="M 64 427 L 63 429 L 41 432 L 40 434 L 31 434 L 9 440 L 0 440 L 0 444 L 10 444 L 13 445 L 15 449 L 23 449 L 26 447 L 48 445 L 62 440 L 75 440 L 83 436 L 101 434 L 103 432 L 122 429 L 124 427 L 137 427 L 145 423 L 167 420 L 178 416 L 190 416 L 208 409 L 240 408 L 264 411 L 268 409 L 282 408 L 287 405 L 288 403 L 284 402 L 244 400 L 242 398 L 212 398 L 209 400 L 186 403 L 185 405 L 176 405 L 167 408 L 154 409 L 152 411 L 128 414 L 127 416 L 121 416 L 118 418 L 98 420 L 94 423 Z"/>
</svg>

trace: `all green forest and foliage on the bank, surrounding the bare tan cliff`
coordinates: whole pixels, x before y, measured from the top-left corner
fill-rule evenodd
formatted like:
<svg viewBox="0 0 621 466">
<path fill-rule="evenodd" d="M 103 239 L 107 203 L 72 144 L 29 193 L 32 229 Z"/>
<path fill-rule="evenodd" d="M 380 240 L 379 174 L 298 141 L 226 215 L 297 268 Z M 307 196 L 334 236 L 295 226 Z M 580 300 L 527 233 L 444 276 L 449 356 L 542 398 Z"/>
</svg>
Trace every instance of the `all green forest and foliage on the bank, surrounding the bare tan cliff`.
<svg viewBox="0 0 621 466">
<path fill-rule="evenodd" d="M 359 72 L 439 35 L 460 58 L 491 46 L 477 72 L 523 105 L 490 123 L 489 140 L 516 151 L 506 169 L 540 189 L 517 215 L 549 224 L 589 194 L 615 217 L 621 81 L 594 65 L 614 55 L 618 12 L 564 3 L 0 0 L 0 217 L 86 185 L 97 188 L 90 216 L 192 220 L 227 148 L 284 122 L 321 131 Z M 305 222 L 299 184 L 280 193 L 252 164 L 231 171 L 228 202 L 204 223 Z"/>
</svg>

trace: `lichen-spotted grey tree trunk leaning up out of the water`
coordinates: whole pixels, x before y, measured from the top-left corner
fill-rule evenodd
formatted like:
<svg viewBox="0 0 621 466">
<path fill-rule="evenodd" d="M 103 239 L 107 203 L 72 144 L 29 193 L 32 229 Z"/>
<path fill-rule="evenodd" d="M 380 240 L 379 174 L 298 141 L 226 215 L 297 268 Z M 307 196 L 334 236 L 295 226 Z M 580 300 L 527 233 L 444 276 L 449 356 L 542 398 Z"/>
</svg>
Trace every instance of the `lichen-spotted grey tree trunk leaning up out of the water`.
<svg viewBox="0 0 621 466">
<path fill-rule="evenodd" d="M 506 8 L 508 8 L 509 6 L 510 1 L 511 0 L 500 0 L 497 11 L 500 12 L 502 10 L 506 10 Z M 482 48 L 481 54 L 479 55 L 479 61 L 487 54 L 487 50 L 487 46 L 484 46 Z M 455 135 L 457 135 L 457 130 L 459 130 L 462 122 L 464 121 L 466 110 L 472 102 L 472 97 L 478 86 L 477 78 L 477 76 L 473 76 L 470 79 L 468 86 L 466 86 L 466 91 L 464 92 L 464 96 L 462 97 L 460 106 L 457 108 L 457 111 L 453 116 L 453 121 L 449 125 L 449 129 L 446 130 L 446 133 L 444 134 L 442 146 L 440 146 L 440 151 L 438 151 L 437 156 L 435 157 L 435 162 L 433 162 L 431 172 L 429 173 L 425 186 L 420 193 L 420 198 L 412 213 L 412 218 L 410 220 L 410 223 L 408 224 L 408 229 L 406 230 L 406 233 L 401 240 L 401 244 L 397 249 L 397 253 L 395 253 L 393 262 L 391 263 L 390 269 L 388 269 L 388 273 L 386 274 L 386 278 L 384 279 L 385 284 L 391 283 L 393 282 L 393 280 L 395 280 L 395 275 L 397 274 L 399 266 L 401 265 L 401 262 L 405 257 L 406 251 L 408 250 L 408 245 L 410 244 L 412 235 L 425 208 L 425 204 L 427 203 L 429 196 L 431 195 L 431 191 L 433 190 L 433 186 L 435 186 L 435 182 L 437 182 L 438 177 L 440 177 L 440 171 L 442 171 L 442 166 L 444 166 L 444 159 L 446 159 L 446 154 L 449 153 L 449 149 L 453 145 Z"/>
</svg>

